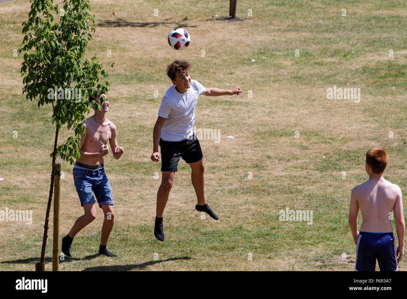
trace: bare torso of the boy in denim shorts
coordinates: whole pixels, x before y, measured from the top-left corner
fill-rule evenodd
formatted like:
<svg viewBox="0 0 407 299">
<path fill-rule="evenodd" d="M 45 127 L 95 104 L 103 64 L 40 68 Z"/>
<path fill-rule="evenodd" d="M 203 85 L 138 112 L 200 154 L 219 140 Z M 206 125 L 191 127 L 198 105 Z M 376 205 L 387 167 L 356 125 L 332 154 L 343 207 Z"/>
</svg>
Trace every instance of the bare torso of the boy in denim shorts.
<svg viewBox="0 0 407 299">
<path fill-rule="evenodd" d="M 101 147 L 103 147 L 101 142 L 108 145 L 107 142 L 112 137 L 112 132 L 116 131 L 113 122 L 105 119 L 102 124 L 98 124 L 94 116 L 87 118 L 83 124 L 85 124 L 86 133 L 81 139 L 81 151 L 88 153 L 98 153 Z M 99 140 L 100 142 L 94 140 Z M 82 164 L 95 166 L 103 163 L 103 156 L 81 157 L 77 161 Z"/>
</svg>

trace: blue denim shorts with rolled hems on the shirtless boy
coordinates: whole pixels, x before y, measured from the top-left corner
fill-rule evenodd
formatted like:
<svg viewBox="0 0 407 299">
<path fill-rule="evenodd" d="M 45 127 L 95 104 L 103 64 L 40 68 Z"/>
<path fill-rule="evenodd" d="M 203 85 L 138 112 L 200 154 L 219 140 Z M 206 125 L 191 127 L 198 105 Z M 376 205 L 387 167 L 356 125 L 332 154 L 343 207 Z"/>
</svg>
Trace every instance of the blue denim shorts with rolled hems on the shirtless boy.
<svg viewBox="0 0 407 299">
<path fill-rule="evenodd" d="M 112 187 L 106 177 L 105 169 L 85 170 L 74 168 L 72 170 L 74 183 L 77 189 L 81 206 L 94 203 L 95 194 L 99 207 L 101 205 L 113 205 Z"/>
</svg>

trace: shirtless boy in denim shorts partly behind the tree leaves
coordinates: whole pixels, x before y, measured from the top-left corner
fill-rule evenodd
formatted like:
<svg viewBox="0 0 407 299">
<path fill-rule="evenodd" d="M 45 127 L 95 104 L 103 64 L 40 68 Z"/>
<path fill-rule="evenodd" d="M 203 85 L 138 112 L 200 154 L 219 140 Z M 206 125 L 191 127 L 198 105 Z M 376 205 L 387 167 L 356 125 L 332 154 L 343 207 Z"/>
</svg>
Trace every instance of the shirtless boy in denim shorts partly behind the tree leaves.
<svg viewBox="0 0 407 299">
<path fill-rule="evenodd" d="M 114 211 L 112 188 L 103 167 L 103 156 L 109 153 L 107 141 L 109 141 L 110 147 L 114 148 L 113 157 L 115 159 L 119 159 L 124 151 L 123 147 L 117 144 L 116 126 L 105 118 L 105 114 L 109 109 L 109 101 L 101 90 L 98 91 L 98 94 L 100 96 L 89 98 L 89 101 L 94 100 L 99 103 L 99 98 L 104 97 L 105 104 L 101 105 L 102 111 L 93 108 L 94 115 L 83 122 L 86 131 L 85 134 L 81 133 L 81 148 L 79 148 L 81 155 L 72 170 L 75 187 L 85 214 L 75 221 L 70 232 L 62 238 L 62 252 L 68 257 L 71 256 L 70 248 L 74 236 L 96 218 L 95 199 L 92 191 L 105 215 L 99 254 L 109 257 L 117 256 L 106 249 L 107 239 L 113 228 Z"/>
</svg>

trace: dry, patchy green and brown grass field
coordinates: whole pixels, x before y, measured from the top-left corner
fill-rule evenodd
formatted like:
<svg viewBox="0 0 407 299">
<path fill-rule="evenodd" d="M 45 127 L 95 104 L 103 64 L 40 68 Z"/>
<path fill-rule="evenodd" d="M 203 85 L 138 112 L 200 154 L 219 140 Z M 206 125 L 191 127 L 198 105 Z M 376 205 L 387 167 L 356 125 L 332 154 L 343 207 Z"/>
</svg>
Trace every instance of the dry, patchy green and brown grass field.
<svg viewBox="0 0 407 299">
<path fill-rule="evenodd" d="M 348 227 L 350 192 L 368 179 L 364 157 L 370 148 L 385 148 L 385 179 L 406 194 L 407 4 L 239 0 L 236 15 L 244 21 L 217 20 L 228 15 L 228 6 L 226 0 L 92 1 L 97 28 L 87 56 L 115 62 L 106 117 L 125 150 L 120 160 L 105 157 L 116 213 L 107 248 L 119 257 L 95 255 L 103 222 L 98 209 L 96 220 L 74 238 L 72 258 L 61 262 L 61 271 L 351 271 L 356 246 Z M 26 0 L 0 3 L 0 210 L 33 211 L 31 225 L 0 222 L 0 270 L 34 270 L 50 183 L 52 108 L 25 100 L 22 57 L 13 57 L 28 12 Z M 187 50 L 168 46 L 166 35 L 176 27 L 191 35 Z M 190 168 L 181 161 L 164 212 L 166 240 L 159 242 L 153 225 L 160 163 L 150 160 L 152 132 L 171 86 L 166 65 L 175 59 L 190 61 L 192 79 L 205 87 L 238 85 L 243 93 L 200 96 L 195 110 L 197 128 L 221 133 L 219 143 L 200 142 L 206 200 L 219 221 L 202 220 L 195 211 Z M 334 85 L 360 88 L 360 102 L 328 100 Z M 59 144 L 70 134 L 61 130 Z M 59 162 L 65 175 L 62 237 L 83 209 L 72 166 Z M 287 207 L 312 210 L 313 223 L 279 221 Z M 52 217 L 48 235 L 50 270 Z M 405 267 L 404 259 L 399 268 Z"/>
</svg>

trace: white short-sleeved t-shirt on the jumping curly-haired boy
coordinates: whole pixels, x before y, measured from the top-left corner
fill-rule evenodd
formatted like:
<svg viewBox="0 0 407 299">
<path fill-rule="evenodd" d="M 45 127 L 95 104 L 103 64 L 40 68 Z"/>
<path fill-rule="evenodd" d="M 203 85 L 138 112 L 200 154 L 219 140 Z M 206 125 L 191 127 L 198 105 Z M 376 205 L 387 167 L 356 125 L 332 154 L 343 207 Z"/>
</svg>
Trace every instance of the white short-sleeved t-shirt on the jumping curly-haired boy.
<svg viewBox="0 0 407 299">
<path fill-rule="evenodd" d="M 161 129 L 161 139 L 165 141 L 181 141 L 193 134 L 195 123 L 195 106 L 198 96 L 204 94 L 206 88 L 191 79 L 191 87 L 184 94 L 177 92 L 175 85 L 166 91 L 158 116 L 166 118 Z"/>
</svg>

